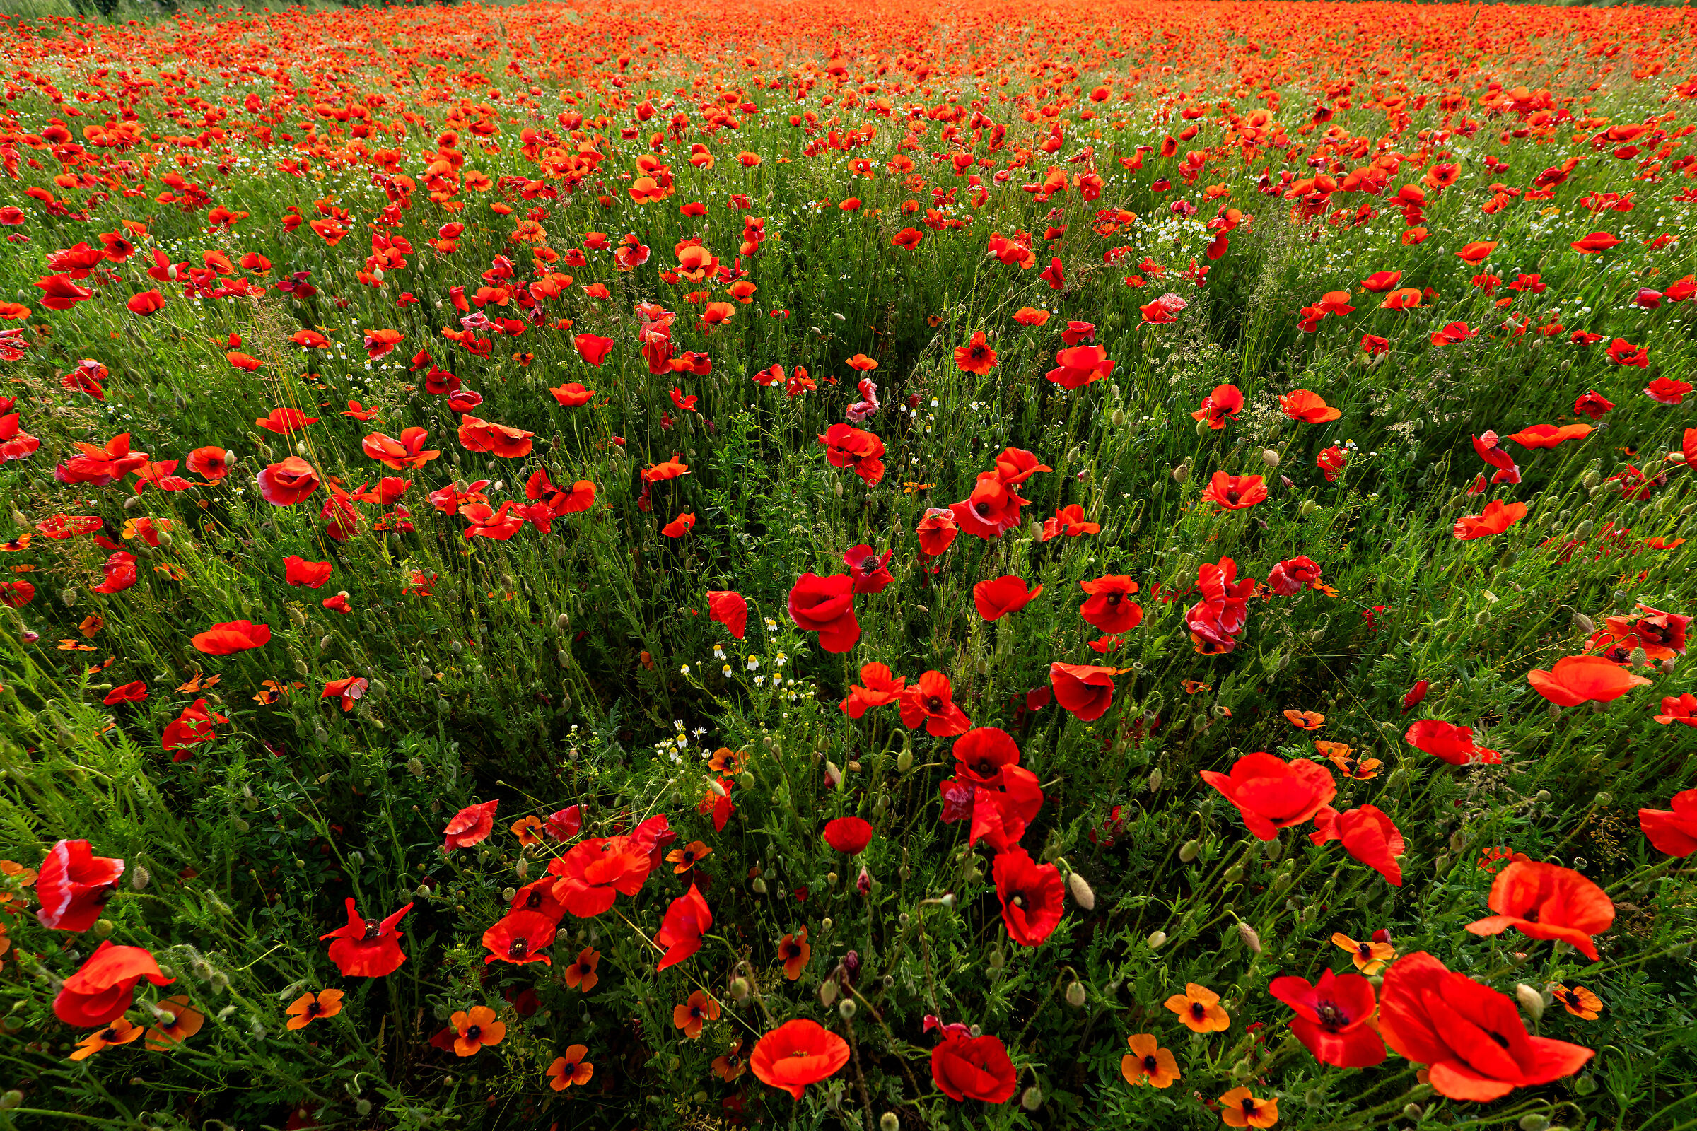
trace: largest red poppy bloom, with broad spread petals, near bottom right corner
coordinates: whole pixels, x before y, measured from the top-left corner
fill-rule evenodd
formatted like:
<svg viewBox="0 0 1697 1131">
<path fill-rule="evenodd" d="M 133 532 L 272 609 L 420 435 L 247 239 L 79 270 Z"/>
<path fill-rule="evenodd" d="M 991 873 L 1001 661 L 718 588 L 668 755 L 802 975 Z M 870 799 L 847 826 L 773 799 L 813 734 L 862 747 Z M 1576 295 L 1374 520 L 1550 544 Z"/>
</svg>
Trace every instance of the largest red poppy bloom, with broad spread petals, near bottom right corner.
<svg viewBox="0 0 1697 1131">
<path fill-rule="evenodd" d="M 1529 1036 L 1507 994 L 1453 973 L 1425 951 L 1385 972 L 1378 1031 L 1392 1051 L 1427 1065 L 1439 1095 L 1487 1102 L 1573 1075 L 1592 1050 Z"/>
</svg>

